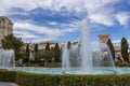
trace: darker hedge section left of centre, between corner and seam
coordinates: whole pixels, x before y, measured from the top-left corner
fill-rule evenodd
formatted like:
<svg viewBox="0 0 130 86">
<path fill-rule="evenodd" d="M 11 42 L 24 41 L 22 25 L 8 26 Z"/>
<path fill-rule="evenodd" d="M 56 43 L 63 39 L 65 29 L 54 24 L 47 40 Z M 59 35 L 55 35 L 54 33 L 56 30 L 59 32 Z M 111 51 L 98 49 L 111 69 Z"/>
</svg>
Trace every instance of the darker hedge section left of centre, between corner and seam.
<svg viewBox="0 0 130 86">
<path fill-rule="evenodd" d="M 16 83 L 20 86 L 58 86 L 58 75 L 35 74 L 27 72 L 17 72 Z"/>
</svg>

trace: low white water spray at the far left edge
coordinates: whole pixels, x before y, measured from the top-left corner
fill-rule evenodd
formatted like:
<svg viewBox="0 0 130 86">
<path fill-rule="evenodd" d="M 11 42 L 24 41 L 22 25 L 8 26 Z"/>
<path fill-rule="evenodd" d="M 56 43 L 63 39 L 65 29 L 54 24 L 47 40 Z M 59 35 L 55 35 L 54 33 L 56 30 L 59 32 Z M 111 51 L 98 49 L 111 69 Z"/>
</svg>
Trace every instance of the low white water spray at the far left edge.
<svg viewBox="0 0 130 86">
<path fill-rule="evenodd" d="M 15 67 L 14 51 L 0 49 L 0 68 Z"/>
</svg>

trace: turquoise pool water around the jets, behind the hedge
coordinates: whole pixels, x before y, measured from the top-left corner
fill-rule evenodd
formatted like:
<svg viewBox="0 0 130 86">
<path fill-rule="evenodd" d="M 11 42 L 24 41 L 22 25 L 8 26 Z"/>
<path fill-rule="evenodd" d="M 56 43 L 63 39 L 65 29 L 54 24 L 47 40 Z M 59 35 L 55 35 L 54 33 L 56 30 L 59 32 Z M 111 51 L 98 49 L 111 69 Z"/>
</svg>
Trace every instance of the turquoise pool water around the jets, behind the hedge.
<svg viewBox="0 0 130 86">
<path fill-rule="evenodd" d="M 9 71 L 24 71 L 29 73 L 42 73 L 42 74 L 64 74 L 62 68 L 42 68 L 42 67 L 16 67 L 16 68 L 5 68 Z M 116 68 L 116 74 L 130 74 L 130 68 Z M 84 72 L 77 72 L 75 69 L 73 71 L 67 71 L 68 74 L 86 74 Z M 110 68 L 99 69 L 95 74 L 113 74 Z"/>
</svg>

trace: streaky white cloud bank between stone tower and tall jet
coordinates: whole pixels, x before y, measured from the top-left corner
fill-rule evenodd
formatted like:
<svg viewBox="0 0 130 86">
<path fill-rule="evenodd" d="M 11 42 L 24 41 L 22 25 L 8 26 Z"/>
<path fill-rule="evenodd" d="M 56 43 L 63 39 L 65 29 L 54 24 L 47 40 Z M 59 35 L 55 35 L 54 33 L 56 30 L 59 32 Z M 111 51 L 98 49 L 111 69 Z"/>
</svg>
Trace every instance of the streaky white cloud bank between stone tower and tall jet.
<svg viewBox="0 0 130 86">
<path fill-rule="evenodd" d="M 40 40 L 41 41 L 56 40 L 57 38 L 67 35 L 68 32 L 75 32 L 77 30 L 77 28 L 75 27 L 76 26 L 78 27 L 77 23 L 72 23 L 68 25 L 67 24 L 58 24 L 58 25 L 61 25 L 61 27 L 58 28 L 49 28 L 44 26 L 34 25 L 31 20 L 25 20 L 25 22 L 17 20 L 14 22 L 14 34 L 23 39 L 34 38 L 35 42 L 38 42 Z M 68 28 L 64 29 L 62 27 L 64 28 L 68 27 Z"/>
</svg>

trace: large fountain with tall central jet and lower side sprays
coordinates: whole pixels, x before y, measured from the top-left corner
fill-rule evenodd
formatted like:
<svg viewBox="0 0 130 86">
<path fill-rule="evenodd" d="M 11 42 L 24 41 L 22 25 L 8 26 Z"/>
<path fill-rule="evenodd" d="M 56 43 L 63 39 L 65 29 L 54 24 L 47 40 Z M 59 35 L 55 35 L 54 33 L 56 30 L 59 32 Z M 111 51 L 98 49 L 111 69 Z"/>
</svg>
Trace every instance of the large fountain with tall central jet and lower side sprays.
<svg viewBox="0 0 130 86">
<path fill-rule="evenodd" d="M 82 39 L 77 47 L 63 51 L 63 73 L 67 74 L 112 74 L 115 64 L 107 44 L 100 44 L 94 51 L 89 40 L 87 20 L 82 20 Z"/>
</svg>

